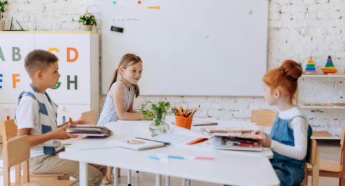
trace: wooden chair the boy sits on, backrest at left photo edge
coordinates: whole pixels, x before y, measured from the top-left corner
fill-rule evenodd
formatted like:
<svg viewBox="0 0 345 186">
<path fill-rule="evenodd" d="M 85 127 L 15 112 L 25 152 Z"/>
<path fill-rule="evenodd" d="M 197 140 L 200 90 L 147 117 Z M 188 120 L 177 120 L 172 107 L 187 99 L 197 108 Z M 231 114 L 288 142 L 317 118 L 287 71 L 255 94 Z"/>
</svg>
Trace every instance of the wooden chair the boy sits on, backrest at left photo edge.
<svg viewBox="0 0 345 186">
<path fill-rule="evenodd" d="M 16 137 L 18 135 L 18 127 L 14 123 L 14 119 L 8 121 L 1 121 L 1 134 L 3 141 L 3 148 L 6 147 L 6 144 L 10 138 Z M 21 169 L 20 165 L 16 167 L 16 183 L 19 182 L 19 174 L 17 170 Z M 70 179 L 66 174 L 33 174 L 30 172 L 31 180 L 59 180 L 59 176 L 66 179 Z"/>
</svg>

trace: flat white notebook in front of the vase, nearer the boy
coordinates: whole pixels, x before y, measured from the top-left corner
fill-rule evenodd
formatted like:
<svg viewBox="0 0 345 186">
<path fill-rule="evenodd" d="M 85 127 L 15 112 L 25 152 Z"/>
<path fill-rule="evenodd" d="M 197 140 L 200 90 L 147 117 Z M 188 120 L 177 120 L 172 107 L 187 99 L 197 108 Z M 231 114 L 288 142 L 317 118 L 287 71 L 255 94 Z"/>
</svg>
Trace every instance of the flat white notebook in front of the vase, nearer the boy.
<svg viewBox="0 0 345 186">
<path fill-rule="evenodd" d="M 148 141 L 148 140 L 138 139 L 138 138 L 128 138 L 128 139 L 122 139 L 122 140 L 117 140 L 117 141 L 109 141 L 108 145 L 124 147 L 127 149 L 135 149 L 135 150 L 164 147 L 164 143 Z"/>
</svg>

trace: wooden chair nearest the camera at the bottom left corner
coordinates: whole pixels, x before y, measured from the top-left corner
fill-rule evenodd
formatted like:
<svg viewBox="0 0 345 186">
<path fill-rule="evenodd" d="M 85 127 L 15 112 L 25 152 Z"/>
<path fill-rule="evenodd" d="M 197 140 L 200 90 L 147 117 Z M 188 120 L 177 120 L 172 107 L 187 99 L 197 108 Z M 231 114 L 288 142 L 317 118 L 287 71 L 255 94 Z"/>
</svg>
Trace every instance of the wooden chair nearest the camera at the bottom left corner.
<svg viewBox="0 0 345 186">
<path fill-rule="evenodd" d="M 19 181 L 14 185 L 21 186 L 39 186 L 39 185 L 59 185 L 70 186 L 75 180 L 32 180 L 29 177 L 29 161 L 30 158 L 30 143 L 29 136 L 21 136 L 6 143 L 3 149 L 3 185 L 10 186 L 10 167 L 20 165 L 23 163 L 23 176 L 21 176 L 21 169 L 19 169 Z M 17 174 L 17 170 L 16 170 Z"/>
</svg>

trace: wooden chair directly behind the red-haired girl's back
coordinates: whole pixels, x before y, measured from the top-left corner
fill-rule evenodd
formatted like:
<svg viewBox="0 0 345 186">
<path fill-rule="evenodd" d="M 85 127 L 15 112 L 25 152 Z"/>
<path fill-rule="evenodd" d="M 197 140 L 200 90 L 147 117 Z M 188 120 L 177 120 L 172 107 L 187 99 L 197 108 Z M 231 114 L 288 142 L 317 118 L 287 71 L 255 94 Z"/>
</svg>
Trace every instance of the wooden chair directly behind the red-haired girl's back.
<svg viewBox="0 0 345 186">
<path fill-rule="evenodd" d="M 310 151 L 308 154 L 308 162 L 306 163 L 306 165 L 304 166 L 304 172 L 306 173 L 303 183 L 301 184 L 301 186 L 306 186 L 308 185 L 308 170 L 309 168 L 307 167 L 311 167 L 311 185 L 312 186 L 318 186 L 319 185 L 319 155 L 320 155 L 320 151 L 319 151 L 319 147 L 317 147 L 316 145 L 316 141 L 315 139 L 311 139 L 311 141 L 309 141 L 309 145 L 310 145 Z"/>
</svg>

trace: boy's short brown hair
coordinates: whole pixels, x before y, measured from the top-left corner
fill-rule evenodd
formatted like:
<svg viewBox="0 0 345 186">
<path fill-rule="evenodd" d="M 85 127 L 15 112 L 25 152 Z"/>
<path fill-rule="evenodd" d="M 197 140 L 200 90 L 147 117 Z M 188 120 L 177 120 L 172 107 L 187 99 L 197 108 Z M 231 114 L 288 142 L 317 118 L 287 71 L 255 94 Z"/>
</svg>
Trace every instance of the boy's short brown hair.
<svg viewBox="0 0 345 186">
<path fill-rule="evenodd" d="M 34 76 L 38 70 L 46 71 L 52 63 L 59 61 L 55 54 L 46 50 L 33 50 L 24 59 L 24 68 L 29 76 Z"/>
</svg>

